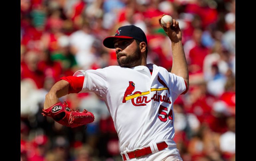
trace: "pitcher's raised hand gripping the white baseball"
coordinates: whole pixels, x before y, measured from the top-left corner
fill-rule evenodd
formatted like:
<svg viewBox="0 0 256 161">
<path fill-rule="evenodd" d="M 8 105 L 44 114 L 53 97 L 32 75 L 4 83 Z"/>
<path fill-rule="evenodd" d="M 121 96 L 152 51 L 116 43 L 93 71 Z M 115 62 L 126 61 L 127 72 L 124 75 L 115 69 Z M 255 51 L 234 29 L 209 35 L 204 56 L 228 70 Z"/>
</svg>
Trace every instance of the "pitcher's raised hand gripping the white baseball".
<svg viewBox="0 0 256 161">
<path fill-rule="evenodd" d="M 171 39 L 172 42 L 179 42 L 182 40 L 181 29 L 179 27 L 179 22 L 173 19 L 173 24 L 171 25 L 170 22 L 167 22 L 166 27 L 161 24 L 161 18 L 164 16 L 163 14 L 159 19 L 160 26 L 164 29 L 167 36 Z"/>
</svg>

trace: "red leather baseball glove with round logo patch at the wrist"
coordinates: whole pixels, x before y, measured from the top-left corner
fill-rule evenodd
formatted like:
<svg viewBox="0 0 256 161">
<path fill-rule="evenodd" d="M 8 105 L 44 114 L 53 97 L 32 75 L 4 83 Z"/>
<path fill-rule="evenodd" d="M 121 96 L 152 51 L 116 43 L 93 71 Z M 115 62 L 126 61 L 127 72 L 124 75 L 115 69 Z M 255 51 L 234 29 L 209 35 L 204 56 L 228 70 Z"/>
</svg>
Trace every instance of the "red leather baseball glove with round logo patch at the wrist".
<svg viewBox="0 0 256 161">
<path fill-rule="evenodd" d="M 61 102 L 51 106 L 49 109 L 44 110 L 44 116 L 49 116 L 54 121 L 67 127 L 77 127 L 94 121 L 94 115 L 87 110 L 80 112 L 79 110 L 74 111 L 67 107 L 67 103 L 62 104 Z"/>
</svg>

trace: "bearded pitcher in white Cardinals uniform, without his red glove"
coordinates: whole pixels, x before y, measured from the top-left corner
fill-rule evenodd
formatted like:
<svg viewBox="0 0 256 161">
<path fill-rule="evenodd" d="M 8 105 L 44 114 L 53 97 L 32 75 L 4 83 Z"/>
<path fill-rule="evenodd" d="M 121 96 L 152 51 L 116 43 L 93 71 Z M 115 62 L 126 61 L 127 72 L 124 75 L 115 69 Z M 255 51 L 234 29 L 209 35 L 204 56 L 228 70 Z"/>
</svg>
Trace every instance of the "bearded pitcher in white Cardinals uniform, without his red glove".
<svg viewBox="0 0 256 161">
<path fill-rule="evenodd" d="M 44 110 L 55 106 L 54 111 L 58 111 L 59 98 L 69 93 L 94 92 L 105 100 L 124 161 L 181 161 L 173 141 L 173 103 L 188 91 L 188 67 L 179 23 L 174 19 L 172 25 L 168 22 L 162 28 L 171 40 L 171 73 L 147 64 L 148 44 L 140 28 L 122 26 L 114 36 L 103 40 L 104 46 L 115 48 L 119 66 L 79 70 L 73 76 L 62 77 L 46 95 Z"/>
</svg>

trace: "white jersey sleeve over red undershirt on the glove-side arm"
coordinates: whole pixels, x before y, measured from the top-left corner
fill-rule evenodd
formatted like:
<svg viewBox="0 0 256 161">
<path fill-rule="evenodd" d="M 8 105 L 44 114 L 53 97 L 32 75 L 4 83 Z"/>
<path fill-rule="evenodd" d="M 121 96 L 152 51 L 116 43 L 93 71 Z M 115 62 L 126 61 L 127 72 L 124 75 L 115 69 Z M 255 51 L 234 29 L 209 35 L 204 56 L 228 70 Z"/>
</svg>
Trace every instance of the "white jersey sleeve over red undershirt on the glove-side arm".
<svg viewBox="0 0 256 161">
<path fill-rule="evenodd" d="M 106 80 L 106 71 L 104 71 L 104 69 L 78 70 L 73 76 L 84 77 L 82 90 L 79 93 L 93 92 L 100 97 L 106 95 L 108 82 Z"/>
</svg>

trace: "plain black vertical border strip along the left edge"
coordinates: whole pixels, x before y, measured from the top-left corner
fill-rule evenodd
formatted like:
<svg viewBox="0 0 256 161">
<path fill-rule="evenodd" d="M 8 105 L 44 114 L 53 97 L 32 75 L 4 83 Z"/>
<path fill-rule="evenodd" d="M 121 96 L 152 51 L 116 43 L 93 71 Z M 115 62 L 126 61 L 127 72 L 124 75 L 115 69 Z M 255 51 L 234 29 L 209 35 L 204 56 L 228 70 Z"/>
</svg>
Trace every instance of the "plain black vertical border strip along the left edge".
<svg viewBox="0 0 256 161">
<path fill-rule="evenodd" d="M 1 151 L 3 159 L 20 160 L 20 3 L 1 6 Z"/>
</svg>

